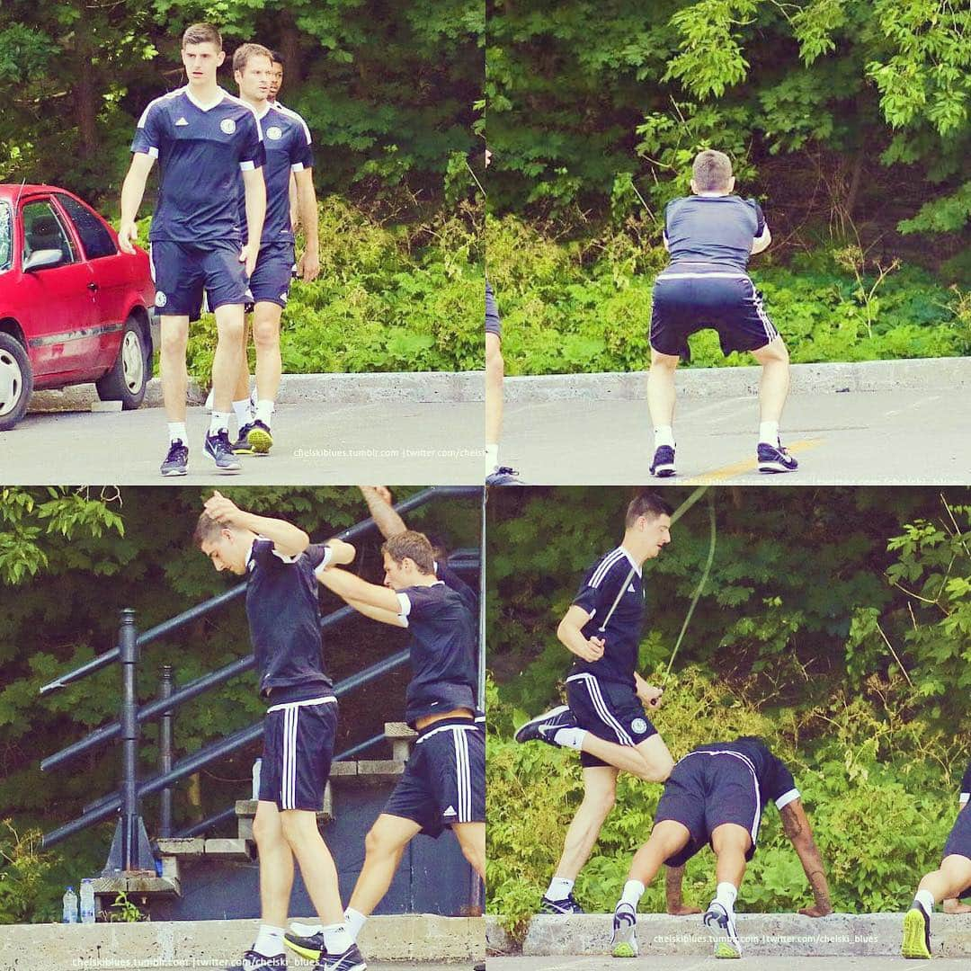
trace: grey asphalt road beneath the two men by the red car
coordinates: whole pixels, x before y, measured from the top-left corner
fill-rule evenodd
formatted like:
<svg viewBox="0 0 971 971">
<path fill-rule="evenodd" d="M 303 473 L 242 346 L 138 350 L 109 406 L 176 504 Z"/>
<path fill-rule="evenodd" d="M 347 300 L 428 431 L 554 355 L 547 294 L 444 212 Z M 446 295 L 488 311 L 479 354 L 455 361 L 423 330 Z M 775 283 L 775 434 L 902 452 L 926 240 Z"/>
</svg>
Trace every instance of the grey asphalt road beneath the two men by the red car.
<svg viewBox="0 0 971 971">
<path fill-rule="evenodd" d="M 189 408 L 189 474 L 163 479 L 165 413 L 29 414 L 0 432 L 0 484 L 33 485 L 474 485 L 483 481 L 482 402 L 389 401 L 359 405 L 279 405 L 274 445 L 243 456 L 243 470 L 216 471 L 202 452 L 209 416 Z M 235 422 L 231 432 L 235 431 Z"/>
</svg>

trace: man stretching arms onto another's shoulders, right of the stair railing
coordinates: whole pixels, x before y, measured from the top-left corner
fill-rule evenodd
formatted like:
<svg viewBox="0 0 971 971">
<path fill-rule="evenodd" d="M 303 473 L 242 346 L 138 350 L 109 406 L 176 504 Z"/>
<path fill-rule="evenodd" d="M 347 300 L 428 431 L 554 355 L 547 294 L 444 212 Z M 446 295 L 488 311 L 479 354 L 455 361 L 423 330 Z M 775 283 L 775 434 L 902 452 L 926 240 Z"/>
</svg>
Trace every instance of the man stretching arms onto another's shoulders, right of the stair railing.
<svg viewBox="0 0 971 971">
<path fill-rule="evenodd" d="M 437 838 L 450 827 L 485 880 L 485 732 L 474 719 L 476 622 L 462 598 L 436 579 L 424 535 L 407 530 L 392 536 L 382 555 L 385 586 L 367 583 L 336 561 L 317 573 L 323 586 L 365 617 L 412 632 L 405 720 L 419 736 L 365 840 L 364 867 L 345 914 L 354 939 L 419 833 Z M 315 935 L 288 934 L 286 940 L 304 956 L 313 957 L 320 947 Z"/>
</svg>

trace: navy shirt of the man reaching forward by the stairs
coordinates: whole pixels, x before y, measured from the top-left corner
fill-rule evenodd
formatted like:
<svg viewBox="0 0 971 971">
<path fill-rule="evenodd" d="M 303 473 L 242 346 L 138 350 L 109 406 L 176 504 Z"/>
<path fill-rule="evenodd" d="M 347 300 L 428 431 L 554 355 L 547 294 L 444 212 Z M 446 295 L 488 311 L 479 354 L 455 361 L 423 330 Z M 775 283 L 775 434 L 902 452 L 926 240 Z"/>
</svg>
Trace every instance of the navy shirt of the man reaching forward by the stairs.
<svg viewBox="0 0 971 971">
<path fill-rule="evenodd" d="M 462 596 L 439 580 L 396 591 L 399 616 L 412 632 L 412 680 L 405 720 L 452 708 L 476 710 L 476 624 Z"/>
</svg>

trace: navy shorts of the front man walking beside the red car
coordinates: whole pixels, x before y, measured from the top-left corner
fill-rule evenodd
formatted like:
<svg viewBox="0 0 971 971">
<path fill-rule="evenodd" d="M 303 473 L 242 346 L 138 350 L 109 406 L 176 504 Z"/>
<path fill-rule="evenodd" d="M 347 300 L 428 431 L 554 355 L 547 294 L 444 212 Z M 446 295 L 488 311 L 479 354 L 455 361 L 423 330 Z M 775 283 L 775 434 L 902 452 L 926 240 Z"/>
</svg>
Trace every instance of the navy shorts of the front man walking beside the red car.
<svg viewBox="0 0 971 971">
<path fill-rule="evenodd" d="M 155 310 L 160 315 L 198 320 L 203 294 L 209 310 L 251 303 L 240 244 L 210 240 L 198 245 L 155 240 L 149 248 Z"/>
</svg>

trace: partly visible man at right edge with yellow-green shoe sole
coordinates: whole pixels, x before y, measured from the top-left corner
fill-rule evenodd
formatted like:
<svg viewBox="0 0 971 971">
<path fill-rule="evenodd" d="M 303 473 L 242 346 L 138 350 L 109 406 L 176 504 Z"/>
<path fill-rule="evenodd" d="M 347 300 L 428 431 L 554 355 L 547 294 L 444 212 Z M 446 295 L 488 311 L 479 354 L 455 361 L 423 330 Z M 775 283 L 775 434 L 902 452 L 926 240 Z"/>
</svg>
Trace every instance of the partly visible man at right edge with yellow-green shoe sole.
<svg viewBox="0 0 971 971">
<path fill-rule="evenodd" d="M 900 953 L 904 957 L 930 957 L 930 915 L 939 900 L 971 897 L 971 762 L 961 780 L 960 808 L 941 865 L 928 873 L 918 887 L 914 903 L 904 916 Z"/>
</svg>

